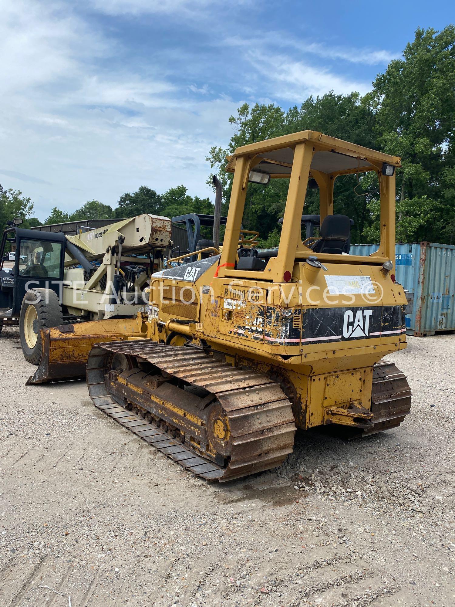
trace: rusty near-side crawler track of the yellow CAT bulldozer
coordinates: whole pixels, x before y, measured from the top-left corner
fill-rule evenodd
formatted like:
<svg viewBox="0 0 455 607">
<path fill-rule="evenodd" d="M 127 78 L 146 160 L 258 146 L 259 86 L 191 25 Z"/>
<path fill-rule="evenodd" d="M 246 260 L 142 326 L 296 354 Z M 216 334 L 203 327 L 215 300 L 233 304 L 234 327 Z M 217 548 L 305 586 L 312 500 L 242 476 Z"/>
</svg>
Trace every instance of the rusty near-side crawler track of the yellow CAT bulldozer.
<svg viewBox="0 0 455 607">
<path fill-rule="evenodd" d="M 280 466 L 294 446 L 291 402 L 278 384 L 194 347 L 97 344 L 87 384 L 95 407 L 206 480 Z"/>
</svg>

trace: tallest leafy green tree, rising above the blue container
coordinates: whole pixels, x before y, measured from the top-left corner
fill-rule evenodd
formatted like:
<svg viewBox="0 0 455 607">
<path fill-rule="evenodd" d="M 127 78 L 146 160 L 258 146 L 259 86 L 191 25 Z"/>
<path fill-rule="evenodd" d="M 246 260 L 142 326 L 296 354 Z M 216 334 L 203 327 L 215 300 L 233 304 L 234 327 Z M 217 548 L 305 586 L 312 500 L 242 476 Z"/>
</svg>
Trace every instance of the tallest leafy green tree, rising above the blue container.
<svg viewBox="0 0 455 607">
<path fill-rule="evenodd" d="M 454 90 L 455 27 L 449 25 L 441 32 L 417 29 L 403 59 L 391 61 L 366 95 L 378 148 L 402 157 L 397 237 L 452 242 L 455 235 Z"/>
</svg>

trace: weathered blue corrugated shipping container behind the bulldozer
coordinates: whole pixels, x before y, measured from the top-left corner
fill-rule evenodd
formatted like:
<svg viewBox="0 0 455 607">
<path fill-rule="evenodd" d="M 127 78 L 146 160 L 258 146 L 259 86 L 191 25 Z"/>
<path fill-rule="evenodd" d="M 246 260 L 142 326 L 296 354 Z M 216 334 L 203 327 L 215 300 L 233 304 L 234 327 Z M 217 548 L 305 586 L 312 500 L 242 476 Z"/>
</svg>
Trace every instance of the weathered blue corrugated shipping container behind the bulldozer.
<svg viewBox="0 0 455 607">
<path fill-rule="evenodd" d="M 351 245 L 352 255 L 368 256 L 379 245 Z M 396 280 L 409 294 L 406 333 L 423 337 L 455 331 L 455 246 L 433 242 L 397 243 Z"/>
</svg>

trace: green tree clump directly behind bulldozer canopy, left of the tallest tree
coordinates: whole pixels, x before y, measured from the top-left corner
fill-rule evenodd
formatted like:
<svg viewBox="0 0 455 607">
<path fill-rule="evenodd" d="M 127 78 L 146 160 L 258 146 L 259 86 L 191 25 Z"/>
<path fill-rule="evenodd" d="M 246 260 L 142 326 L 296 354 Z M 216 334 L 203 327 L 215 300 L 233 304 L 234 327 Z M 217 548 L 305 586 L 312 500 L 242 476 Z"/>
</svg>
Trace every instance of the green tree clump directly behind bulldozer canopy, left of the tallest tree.
<svg viewBox="0 0 455 607">
<path fill-rule="evenodd" d="M 374 114 L 356 92 L 335 95 L 331 91 L 322 97 L 309 97 L 300 107 L 291 107 L 288 112 L 274 104 L 255 104 L 250 109 L 245 103 L 238 108 L 237 117 L 231 116 L 229 122 L 237 128 L 229 146 L 226 149 L 215 146 L 207 157 L 223 183 L 225 200 L 229 198 L 232 183 L 232 174 L 224 172 L 226 155 L 239 146 L 310 129 L 374 147 Z M 277 222 L 284 214 L 288 183 L 287 179 L 273 179 L 266 188 L 252 184 L 248 187 L 243 227 L 257 229 L 263 239 L 261 244 L 267 242 L 269 245 L 277 240 Z M 374 191 L 374 184 L 368 182 L 368 187 Z M 354 219 L 354 242 L 360 237 L 368 217 L 365 192 L 357 196 L 358 191 L 359 180 L 355 176 L 346 175 L 335 182 L 337 207 Z M 318 209 L 318 192 L 309 190 L 304 212 L 317 213 Z M 226 202 L 223 212 L 227 212 Z"/>
</svg>

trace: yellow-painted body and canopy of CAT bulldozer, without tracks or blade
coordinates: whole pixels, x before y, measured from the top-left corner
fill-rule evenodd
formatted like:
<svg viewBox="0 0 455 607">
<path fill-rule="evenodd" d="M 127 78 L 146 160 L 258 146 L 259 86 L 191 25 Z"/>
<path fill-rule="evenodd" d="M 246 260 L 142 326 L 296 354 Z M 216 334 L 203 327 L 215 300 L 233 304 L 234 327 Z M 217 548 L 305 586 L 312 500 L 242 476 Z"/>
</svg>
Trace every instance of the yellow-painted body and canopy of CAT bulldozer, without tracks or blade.
<svg viewBox="0 0 455 607">
<path fill-rule="evenodd" d="M 321 160 L 327 163 L 327 153 L 335 153 L 335 161 L 342 157 L 346 166 L 330 172 L 314 168 Z M 286 162 L 286 157 L 291 161 Z M 309 178 L 314 178 L 319 187 L 323 222 L 326 215 L 334 212 L 335 178 L 366 171 L 376 172 L 379 179 L 379 249 L 369 257 L 318 253 L 317 259 L 326 266 L 329 274 L 371 277 L 376 285 L 376 306 L 399 308 L 399 314 L 402 313 L 406 305 L 403 288 L 391 280 L 395 263 L 395 174 L 383 175 L 385 164 L 398 168 L 400 158 L 314 131 L 236 149 L 227 164 L 227 171 L 234 172 L 234 180 L 219 263 L 192 285 L 167 277 L 166 272 L 153 280 L 150 300 L 159 308 L 159 314 L 155 318 L 149 317 L 147 337 L 165 341 L 170 333 L 181 334 L 222 352 L 232 364 L 279 376 L 293 393 L 295 420 L 304 429 L 329 422 L 365 426 L 366 420 L 372 417 L 373 365 L 385 354 L 406 347 L 401 316 L 399 328 L 393 327 L 394 331 L 391 331 L 392 327 L 385 326 L 376 335 L 362 341 L 314 342 L 309 345 L 302 339 L 294 340 L 296 343 L 292 345 L 281 340 L 279 323 L 270 328 L 267 339 L 257 339 L 257 331 L 251 324 L 254 323 L 252 319 L 265 318 L 269 308 L 274 310 L 274 314 L 301 309 L 303 318 L 315 304 L 329 309 L 346 307 L 346 298 L 342 295 L 331 296 L 329 303 L 315 302 L 312 294 L 309 296 L 308 287 L 323 292 L 324 272 L 309 270 L 305 263 L 309 256 L 314 256 L 314 252 L 302 242 L 300 221 L 295 219 L 302 215 Z M 277 256 L 270 257 L 265 270 L 236 270 L 234 265 L 249 174 L 257 170 L 265 172 L 265 166 L 272 178 L 289 178 Z M 385 263 L 387 270 L 383 267 Z M 211 288 L 211 297 L 201 296 L 207 284 Z M 298 293 L 296 284 L 302 285 Z M 161 292 L 158 292 L 158 287 Z M 194 290 L 195 302 L 190 316 L 185 316 L 184 306 L 167 305 L 166 289 L 169 293 L 171 289 L 174 293 L 176 289 Z M 252 299 L 248 297 L 251 293 L 254 293 Z M 360 294 L 350 297 L 349 304 L 354 309 L 365 306 Z M 224 310 L 223 301 L 236 298 L 239 298 L 237 310 L 233 313 Z M 186 318 L 194 322 L 182 324 L 181 320 Z M 243 334 L 232 330 L 236 322 L 243 327 Z M 250 331 L 244 329 L 248 322 Z"/>
</svg>

